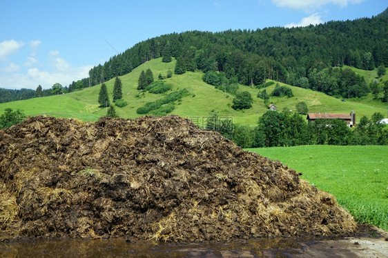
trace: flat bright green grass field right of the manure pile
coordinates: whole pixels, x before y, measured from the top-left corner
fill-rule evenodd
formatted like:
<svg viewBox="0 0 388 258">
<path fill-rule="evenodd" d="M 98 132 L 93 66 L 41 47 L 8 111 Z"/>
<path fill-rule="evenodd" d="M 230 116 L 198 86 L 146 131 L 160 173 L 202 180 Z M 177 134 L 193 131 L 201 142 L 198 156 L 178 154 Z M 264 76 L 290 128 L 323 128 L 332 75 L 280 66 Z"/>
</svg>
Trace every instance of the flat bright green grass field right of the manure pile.
<svg viewBox="0 0 388 258">
<path fill-rule="evenodd" d="M 356 221 L 388 230 L 388 146 L 295 146 L 247 149 L 302 172 L 331 192 Z"/>
</svg>

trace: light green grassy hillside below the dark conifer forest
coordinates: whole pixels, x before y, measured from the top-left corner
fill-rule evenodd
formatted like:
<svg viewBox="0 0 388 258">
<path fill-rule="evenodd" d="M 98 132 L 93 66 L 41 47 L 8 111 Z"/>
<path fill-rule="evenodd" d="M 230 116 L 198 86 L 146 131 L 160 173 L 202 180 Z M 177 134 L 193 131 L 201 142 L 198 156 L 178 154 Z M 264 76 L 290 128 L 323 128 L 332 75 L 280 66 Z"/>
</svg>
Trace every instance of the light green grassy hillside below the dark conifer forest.
<svg viewBox="0 0 388 258">
<path fill-rule="evenodd" d="M 151 68 L 155 80 L 159 73 L 166 76 L 168 70 L 174 70 L 175 59 L 171 63 L 162 63 L 162 58 L 152 59 L 141 66 L 135 68 L 132 72 L 120 77 L 123 84 L 123 99 L 128 102 L 128 106 L 124 108 L 116 108 L 119 117 L 135 119 L 139 117 L 136 113 L 137 108 L 143 106 L 147 102 L 155 101 L 168 94 L 155 95 L 148 92 L 140 92 L 137 90 L 137 81 L 140 72 Z M 362 70 L 361 70 L 362 71 Z M 376 71 L 371 71 L 375 72 Z M 264 106 L 264 101 L 258 97 L 258 92 L 264 89 L 251 88 L 249 86 L 240 85 L 240 90 L 251 92 L 253 97 L 253 108 L 244 111 L 236 111 L 231 108 L 233 95 L 217 90 L 214 86 L 208 85 L 202 81 L 202 72 L 186 72 L 183 75 L 173 75 L 169 79 L 165 79 L 167 83 L 173 85 L 173 90 L 182 90 L 186 88 L 189 94 L 178 102 L 173 114 L 191 119 L 206 117 L 212 111 L 217 111 L 220 116 L 233 117 L 234 123 L 242 125 L 255 125 L 258 121 L 258 115 L 264 114 L 268 109 Z M 374 75 L 371 75 L 374 76 Z M 110 101 L 113 99 L 113 83 L 115 79 L 106 82 Z M 284 83 L 280 83 L 284 85 Z M 295 112 L 295 104 L 299 101 L 304 101 L 309 107 L 309 112 L 351 112 L 354 110 L 359 120 L 362 116 L 371 117 L 374 112 L 382 112 L 386 115 L 387 104 L 381 101 L 375 101 L 372 97 L 365 99 L 350 99 L 350 101 L 342 102 L 340 99 L 329 97 L 322 92 L 307 90 L 303 88 L 289 86 L 294 97 L 271 97 L 270 102 L 278 106 L 278 110 L 289 108 Z M 77 92 L 71 92 L 65 95 L 55 95 L 51 97 L 41 97 L 28 99 L 23 101 L 13 101 L 0 104 L 0 113 L 4 112 L 5 108 L 14 110 L 21 109 L 27 116 L 49 115 L 54 117 L 77 118 L 83 121 L 96 121 L 99 117 L 106 115 L 106 108 L 99 108 L 97 103 L 100 85 L 91 88 L 85 88 Z M 275 85 L 269 86 L 266 89 L 271 93 Z M 199 120 L 200 124 L 202 120 Z"/>
</svg>

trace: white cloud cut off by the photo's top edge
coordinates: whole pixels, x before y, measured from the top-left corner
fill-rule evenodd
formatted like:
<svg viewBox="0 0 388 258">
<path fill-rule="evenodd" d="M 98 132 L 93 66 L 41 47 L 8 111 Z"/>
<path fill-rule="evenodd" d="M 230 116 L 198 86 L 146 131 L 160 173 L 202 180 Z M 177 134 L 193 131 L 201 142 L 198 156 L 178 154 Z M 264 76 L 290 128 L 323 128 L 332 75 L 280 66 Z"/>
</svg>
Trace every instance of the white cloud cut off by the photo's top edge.
<svg viewBox="0 0 388 258">
<path fill-rule="evenodd" d="M 361 3 L 364 0 L 272 0 L 277 6 L 287 7 L 298 10 L 316 10 L 328 3 L 336 4 L 340 7 L 346 7 L 348 3 Z"/>
</svg>

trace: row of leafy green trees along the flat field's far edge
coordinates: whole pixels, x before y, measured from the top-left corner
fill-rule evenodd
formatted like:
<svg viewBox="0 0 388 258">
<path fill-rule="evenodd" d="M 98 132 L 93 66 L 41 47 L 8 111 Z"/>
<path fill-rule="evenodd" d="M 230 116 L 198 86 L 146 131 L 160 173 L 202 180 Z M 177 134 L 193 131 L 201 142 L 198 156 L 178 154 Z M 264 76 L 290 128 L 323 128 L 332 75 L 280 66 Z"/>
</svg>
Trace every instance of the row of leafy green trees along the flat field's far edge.
<svg viewBox="0 0 388 258">
<path fill-rule="evenodd" d="M 370 119 L 362 117 L 358 126 L 351 129 L 340 119 L 317 119 L 314 123 L 307 123 L 306 117 L 291 114 L 287 110 L 267 111 L 260 117 L 258 126 L 240 126 L 233 125 L 231 121 L 218 121 L 222 126 L 216 130 L 242 148 L 308 144 L 388 145 L 388 130 L 380 123 L 383 118 L 380 112 L 376 112 Z M 213 120 L 217 120 L 217 115 Z M 206 128 L 214 128 L 214 121 Z"/>
</svg>

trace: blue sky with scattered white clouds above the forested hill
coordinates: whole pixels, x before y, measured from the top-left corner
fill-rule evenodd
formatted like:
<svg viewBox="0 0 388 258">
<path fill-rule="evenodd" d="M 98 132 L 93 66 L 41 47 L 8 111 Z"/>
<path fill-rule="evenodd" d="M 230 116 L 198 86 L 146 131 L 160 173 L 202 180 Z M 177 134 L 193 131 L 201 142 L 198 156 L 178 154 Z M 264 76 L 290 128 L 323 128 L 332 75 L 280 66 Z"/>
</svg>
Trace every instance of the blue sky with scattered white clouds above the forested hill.
<svg viewBox="0 0 388 258">
<path fill-rule="evenodd" d="M 0 88 L 68 86 L 117 52 L 162 34 L 307 26 L 372 17 L 387 6 L 386 0 L 0 0 Z"/>
</svg>

